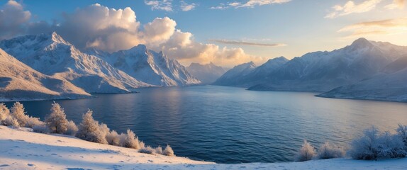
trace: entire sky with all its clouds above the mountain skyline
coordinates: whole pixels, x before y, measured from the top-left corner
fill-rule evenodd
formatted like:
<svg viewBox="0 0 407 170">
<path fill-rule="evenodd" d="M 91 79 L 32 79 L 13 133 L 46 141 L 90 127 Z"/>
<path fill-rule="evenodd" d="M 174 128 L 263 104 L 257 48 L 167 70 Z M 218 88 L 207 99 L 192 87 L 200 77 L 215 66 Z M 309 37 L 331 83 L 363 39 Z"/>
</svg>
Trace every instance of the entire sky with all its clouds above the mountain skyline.
<svg viewBox="0 0 407 170">
<path fill-rule="evenodd" d="M 407 0 L 0 0 L 0 39 L 53 31 L 80 50 L 145 44 L 184 65 L 233 67 L 362 37 L 407 45 Z"/>
</svg>

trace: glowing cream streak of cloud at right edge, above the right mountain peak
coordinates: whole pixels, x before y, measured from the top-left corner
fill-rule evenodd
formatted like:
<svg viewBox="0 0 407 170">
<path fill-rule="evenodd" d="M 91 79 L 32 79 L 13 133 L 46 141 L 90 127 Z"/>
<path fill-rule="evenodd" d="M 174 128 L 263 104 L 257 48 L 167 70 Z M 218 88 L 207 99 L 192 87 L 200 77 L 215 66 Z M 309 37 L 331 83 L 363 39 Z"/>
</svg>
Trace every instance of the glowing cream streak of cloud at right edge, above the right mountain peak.
<svg viewBox="0 0 407 170">
<path fill-rule="evenodd" d="M 399 34 L 406 33 L 406 31 L 407 18 L 392 18 L 381 21 L 355 23 L 338 30 L 339 33 L 350 33 L 346 35 L 345 38 Z"/>
</svg>

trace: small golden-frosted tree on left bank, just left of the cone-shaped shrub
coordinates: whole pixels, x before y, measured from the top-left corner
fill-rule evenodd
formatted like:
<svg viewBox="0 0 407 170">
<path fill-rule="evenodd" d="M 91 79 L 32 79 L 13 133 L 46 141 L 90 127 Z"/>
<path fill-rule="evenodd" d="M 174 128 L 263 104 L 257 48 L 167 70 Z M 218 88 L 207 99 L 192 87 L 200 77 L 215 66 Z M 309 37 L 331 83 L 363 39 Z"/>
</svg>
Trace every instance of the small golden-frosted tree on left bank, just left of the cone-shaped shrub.
<svg viewBox="0 0 407 170">
<path fill-rule="evenodd" d="M 50 111 L 50 115 L 45 118 L 45 123 L 51 132 L 60 134 L 67 132 L 67 115 L 65 115 L 65 111 L 61 108 L 60 104 L 54 102 Z"/>
</svg>

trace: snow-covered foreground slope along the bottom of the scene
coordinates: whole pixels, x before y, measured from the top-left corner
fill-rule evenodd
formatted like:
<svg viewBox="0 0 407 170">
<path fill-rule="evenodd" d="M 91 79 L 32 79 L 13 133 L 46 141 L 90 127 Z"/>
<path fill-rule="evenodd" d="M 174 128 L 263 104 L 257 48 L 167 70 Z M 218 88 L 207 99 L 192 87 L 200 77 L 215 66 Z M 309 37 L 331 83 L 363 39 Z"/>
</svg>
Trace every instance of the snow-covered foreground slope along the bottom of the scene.
<svg viewBox="0 0 407 170">
<path fill-rule="evenodd" d="M 0 169 L 406 169 L 407 159 L 214 164 L 0 126 Z M 177 154 L 177 151 L 175 151 Z M 242 155 L 242 157 L 244 157 Z"/>
</svg>

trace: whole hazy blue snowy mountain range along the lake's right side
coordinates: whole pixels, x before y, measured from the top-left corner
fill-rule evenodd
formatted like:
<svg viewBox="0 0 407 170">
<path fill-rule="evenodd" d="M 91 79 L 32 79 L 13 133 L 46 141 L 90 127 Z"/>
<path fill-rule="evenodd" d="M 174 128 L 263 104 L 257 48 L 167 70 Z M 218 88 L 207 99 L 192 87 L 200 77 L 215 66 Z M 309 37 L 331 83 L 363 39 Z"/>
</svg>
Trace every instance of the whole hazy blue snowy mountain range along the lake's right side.
<svg viewBox="0 0 407 170">
<path fill-rule="evenodd" d="M 359 38 L 331 52 L 310 52 L 292 60 L 278 57 L 255 68 L 251 63 L 241 64 L 213 84 L 255 91 L 322 92 L 318 96 L 333 98 L 407 101 L 405 68 L 407 47 Z"/>
</svg>

